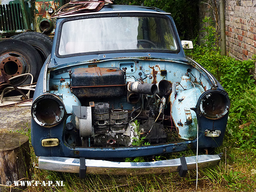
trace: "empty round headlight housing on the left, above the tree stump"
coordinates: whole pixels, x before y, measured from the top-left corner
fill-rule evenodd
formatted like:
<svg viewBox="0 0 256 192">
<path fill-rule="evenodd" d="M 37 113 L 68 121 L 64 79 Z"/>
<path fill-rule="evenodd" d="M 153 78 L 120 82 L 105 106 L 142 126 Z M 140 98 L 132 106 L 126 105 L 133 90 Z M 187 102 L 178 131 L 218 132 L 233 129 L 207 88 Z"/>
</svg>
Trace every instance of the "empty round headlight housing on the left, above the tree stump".
<svg viewBox="0 0 256 192">
<path fill-rule="evenodd" d="M 32 118 L 38 125 L 53 127 L 58 125 L 64 117 L 64 103 L 58 96 L 44 94 L 39 96 L 32 104 Z"/>
</svg>

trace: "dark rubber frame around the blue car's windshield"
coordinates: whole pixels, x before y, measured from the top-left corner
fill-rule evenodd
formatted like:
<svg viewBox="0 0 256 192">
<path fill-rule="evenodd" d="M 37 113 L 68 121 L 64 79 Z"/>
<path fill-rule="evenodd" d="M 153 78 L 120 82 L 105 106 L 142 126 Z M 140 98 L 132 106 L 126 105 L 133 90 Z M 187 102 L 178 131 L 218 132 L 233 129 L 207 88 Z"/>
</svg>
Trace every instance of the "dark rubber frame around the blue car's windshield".
<svg viewBox="0 0 256 192">
<path fill-rule="evenodd" d="M 61 40 L 61 32 L 62 27 L 65 22 L 72 21 L 72 20 L 81 20 L 81 19 L 87 19 L 87 18 L 99 18 L 99 17 L 160 17 L 163 19 L 166 19 L 169 23 L 169 26 L 171 26 L 171 32 L 173 33 L 173 37 L 175 39 L 175 43 L 177 46 L 176 50 L 165 50 L 165 49 L 124 49 L 124 50 L 110 50 L 110 51 L 93 51 L 93 52 L 79 52 L 79 53 L 72 53 L 67 55 L 60 55 L 59 54 L 59 47 L 60 47 L 60 40 Z M 171 20 L 171 18 L 167 15 L 158 14 L 158 13 L 129 13 L 129 12 L 122 12 L 122 13 L 104 13 L 104 14 L 94 14 L 94 15 L 79 15 L 75 17 L 67 17 L 64 20 L 60 22 L 59 28 L 58 28 L 58 35 L 57 35 L 57 41 L 56 41 L 56 47 L 55 47 L 55 55 L 58 58 L 68 58 L 68 57 L 74 57 L 74 56 L 81 56 L 81 55 L 100 55 L 100 54 L 108 54 L 108 53 L 127 53 L 127 52 L 161 52 L 161 53 L 178 53 L 180 52 L 180 43 L 179 38 L 177 36 L 177 32 L 175 30 L 175 26 Z"/>
</svg>

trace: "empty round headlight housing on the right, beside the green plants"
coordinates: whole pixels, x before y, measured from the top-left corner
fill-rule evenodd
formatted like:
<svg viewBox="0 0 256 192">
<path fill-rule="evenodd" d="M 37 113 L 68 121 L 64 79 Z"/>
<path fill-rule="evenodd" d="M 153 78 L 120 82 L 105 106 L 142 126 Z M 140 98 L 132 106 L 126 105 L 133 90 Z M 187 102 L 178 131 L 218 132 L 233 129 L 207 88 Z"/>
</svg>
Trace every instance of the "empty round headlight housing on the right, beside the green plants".
<svg viewBox="0 0 256 192">
<path fill-rule="evenodd" d="M 201 97 L 200 111 L 208 119 L 220 119 L 230 109 L 230 99 L 223 90 L 210 90 Z"/>
</svg>

